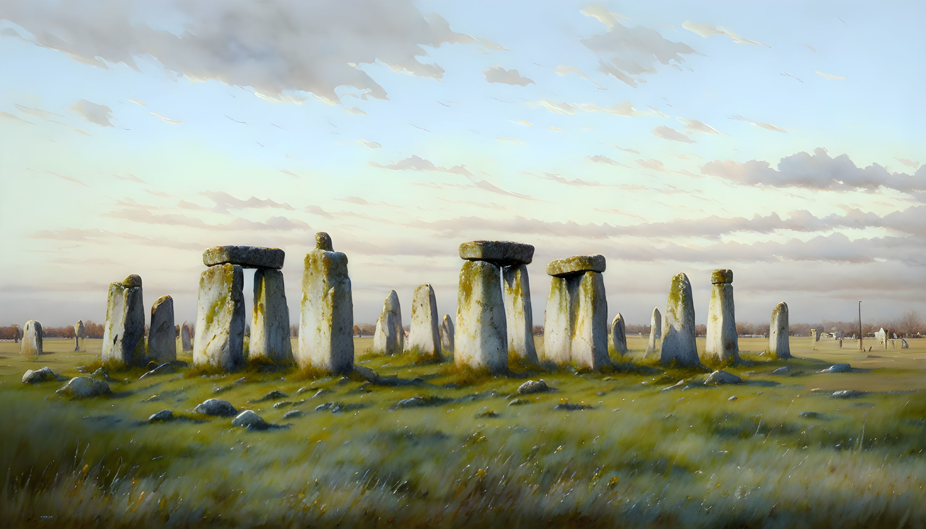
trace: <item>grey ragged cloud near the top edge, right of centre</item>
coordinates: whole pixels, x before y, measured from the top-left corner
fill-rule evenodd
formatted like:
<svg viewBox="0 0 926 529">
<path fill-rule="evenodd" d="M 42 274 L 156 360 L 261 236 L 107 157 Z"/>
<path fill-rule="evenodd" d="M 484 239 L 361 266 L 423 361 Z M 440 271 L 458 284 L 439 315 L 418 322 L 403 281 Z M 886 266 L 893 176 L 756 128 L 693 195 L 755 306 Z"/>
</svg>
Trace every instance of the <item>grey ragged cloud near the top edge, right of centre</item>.
<svg viewBox="0 0 926 529">
<path fill-rule="evenodd" d="M 671 64 L 672 60 L 682 63 L 682 55 L 697 53 L 685 44 L 662 38 L 656 30 L 621 25 L 605 6 L 593 4 L 581 13 L 601 20 L 607 27 L 607 32 L 581 41 L 598 56 L 598 71 L 613 75 L 634 88 L 638 82 L 644 82 L 640 78 L 643 73 L 657 71 L 657 62 L 663 65 Z"/>
</svg>

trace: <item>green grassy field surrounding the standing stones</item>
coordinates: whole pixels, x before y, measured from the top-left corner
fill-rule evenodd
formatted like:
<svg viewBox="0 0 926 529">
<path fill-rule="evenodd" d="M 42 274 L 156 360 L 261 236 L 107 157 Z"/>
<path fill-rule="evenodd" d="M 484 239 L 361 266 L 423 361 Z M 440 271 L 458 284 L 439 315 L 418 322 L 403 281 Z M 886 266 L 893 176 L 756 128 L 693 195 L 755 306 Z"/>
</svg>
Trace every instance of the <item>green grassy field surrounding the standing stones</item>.
<svg viewBox="0 0 926 529">
<path fill-rule="evenodd" d="M 849 341 L 791 343 L 796 359 L 772 361 L 759 354 L 767 340 L 741 338 L 752 352 L 728 371 L 745 384 L 660 391 L 703 374 L 631 365 L 638 336 L 614 358 L 618 372 L 497 378 L 370 356 L 359 338 L 360 365 L 422 380 L 361 387 L 294 370 L 138 380 L 134 370 L 110 372 L 128 381 L 110 383 L 110 397 L 69 400 L 55 394 L 61 383 L 21 384 L 22 374 L 76 376 L 99 359 L 99 340 L 85 352 L 48 340 L 34 359 L 4 342 L 0 517 L 7 527 L 923 526 L 926 340 L 864 353 Z M 859 369 L 818 373 L 836 362 Z M 790 375 L 771 374 L 785 365 Z M 509 406 L 528 378 L 556 390 Z M 331 393 L 314 397 L 321 389 Z M 869 393 L 832 397 L 842 389 Z M 274 390 L 287 397 L 248 403 Z M 432 406 L 394 409 L 416 395 Z M 287 427 L 192 412 L 210 397 Z M 273 406 L 282 400 L 294 405 Z M 326 402 L 352 406 L 315 410 Z M 554 409 L 561 402 L 593 408 Z M 160 409 L 179 419 L 144 422 Z M 291 409 L 305 414 L 283 420 Z"/>
</svg>

